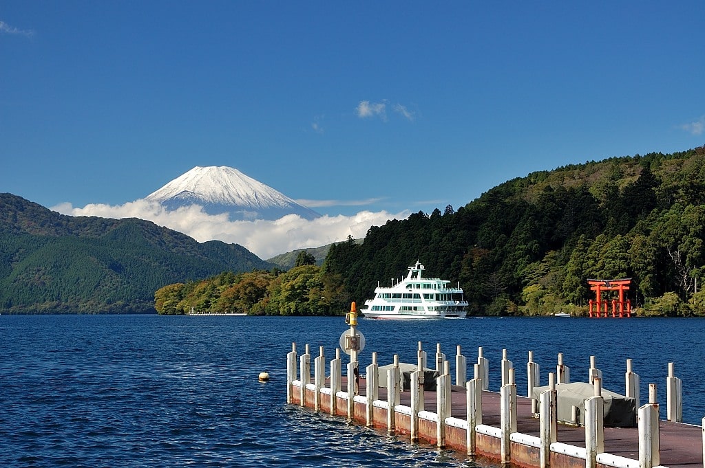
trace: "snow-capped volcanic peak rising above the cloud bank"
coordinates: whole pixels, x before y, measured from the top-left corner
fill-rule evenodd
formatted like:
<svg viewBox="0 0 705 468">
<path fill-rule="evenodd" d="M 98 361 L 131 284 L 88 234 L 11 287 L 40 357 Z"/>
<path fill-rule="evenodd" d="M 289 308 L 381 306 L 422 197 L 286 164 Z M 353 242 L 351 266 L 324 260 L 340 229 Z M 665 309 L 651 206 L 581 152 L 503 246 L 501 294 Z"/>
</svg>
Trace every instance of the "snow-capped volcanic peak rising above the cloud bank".
<svg viewBox="0 0 705 468">
<path fill-rule="evenodd" d="M 167 210 L 200 205 L 210 215 L 228 213 L 231 220 L 278 220 L 292 214 L 313 220 L 321 216 L 227 166 L 194 167 L 147 195 L 145 200 L 159 203 Z"/>
</svg>

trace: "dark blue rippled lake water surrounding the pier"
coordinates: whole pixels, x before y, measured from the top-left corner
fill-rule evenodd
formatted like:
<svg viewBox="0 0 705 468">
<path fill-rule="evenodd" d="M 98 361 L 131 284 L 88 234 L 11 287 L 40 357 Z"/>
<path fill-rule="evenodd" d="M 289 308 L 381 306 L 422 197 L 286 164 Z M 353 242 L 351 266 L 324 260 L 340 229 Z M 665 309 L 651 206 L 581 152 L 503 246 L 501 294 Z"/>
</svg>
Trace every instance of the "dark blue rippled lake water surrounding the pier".
<svg viewBox="0 0 705 468">
<path fill-rule="evenodd" d="M 417 341 L 441 343 L 454 369 L 484 347 L 491 390 L 501 350 L 526 394 L 527 351 L 541 384 L 563 353 L 573 381 L 595 355 L 604 387 L 624 393 L 625 360 L 658 384 L 665 417 L 668 362 L 683 380 L 684 418 L 705 415 L 705 322 L 693 319 L 485 318 L 360 320 L 361 364 L 415 362 Z M 333 358 L 342 318 L 0 316 L 0 466 L 3 467 L 461 467 L 452 453 L 286 405 L 286 353 L 305 343 Z M 345 362 L 345 355 L 343 355 Z M 257 375 L 267 369 L 271 381 Z M 468 366 L 472 372 L 472 366 Z"/>
</svg>

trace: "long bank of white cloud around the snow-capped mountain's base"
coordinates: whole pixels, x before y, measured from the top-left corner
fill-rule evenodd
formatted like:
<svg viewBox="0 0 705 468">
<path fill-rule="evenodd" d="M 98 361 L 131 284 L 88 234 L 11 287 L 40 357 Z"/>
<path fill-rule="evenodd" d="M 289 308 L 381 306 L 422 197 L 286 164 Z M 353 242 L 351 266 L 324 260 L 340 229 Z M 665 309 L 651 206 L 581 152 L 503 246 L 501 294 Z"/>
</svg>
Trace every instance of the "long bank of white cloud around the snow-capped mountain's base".
<svg viewBox="0 0 705 468">
<path fill-rule="evenodd" d="M 61 203 L 51 209 L 72 216 L 137 217 L 183 232 L 199 242 L 216 239 L 228 244 L 240 244 L 264 260 L 297 248 L 344 241 L 349 235 L 362 238 L 372 226 L 381 226 L 387 220 L 404 219 L 409 215 L 407 211 L 397 214 L 361 211 L 353 216 L 326 215 L 312 221 L 298 215 L 288 215 L 276 221 L 231 221 L 228 215 L 208 215 L 197 205 L 167 211 L 157 203 L 143 200 L 117 206 L 91 204 L 83 208 Z"/>
</svg>

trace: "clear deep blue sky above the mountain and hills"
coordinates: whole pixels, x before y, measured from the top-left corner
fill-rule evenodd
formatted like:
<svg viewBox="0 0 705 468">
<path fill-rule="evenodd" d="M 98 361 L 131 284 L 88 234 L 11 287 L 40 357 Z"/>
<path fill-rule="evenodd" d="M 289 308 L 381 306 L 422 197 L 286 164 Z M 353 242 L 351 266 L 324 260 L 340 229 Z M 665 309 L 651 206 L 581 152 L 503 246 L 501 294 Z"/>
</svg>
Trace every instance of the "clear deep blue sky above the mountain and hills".
<svg viewBox="0 0 705 468">
<path fill-rule="evenodd" d="M 705 143 L 705 2 L 4 1 L 0 191 L 228 165 L 330 216 Z"/>
</svg>

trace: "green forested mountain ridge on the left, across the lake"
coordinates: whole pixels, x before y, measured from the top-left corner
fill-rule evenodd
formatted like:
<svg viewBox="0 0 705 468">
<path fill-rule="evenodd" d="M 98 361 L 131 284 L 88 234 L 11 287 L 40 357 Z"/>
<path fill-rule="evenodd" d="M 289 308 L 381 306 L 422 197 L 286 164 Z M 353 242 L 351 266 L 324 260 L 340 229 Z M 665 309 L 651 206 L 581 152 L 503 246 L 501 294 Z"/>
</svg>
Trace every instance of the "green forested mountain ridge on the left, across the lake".
<svg viewBox="0 0 705 468">
<path fill-rule="evenodd" d="M 152 222 L 59 215 L 0 194 L 0 310 L 154 312 L 166 284 L 272 265 L 242 246 L 199 244 Z"/>
</svg>

